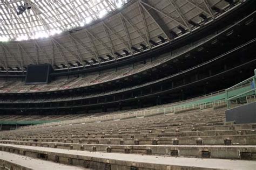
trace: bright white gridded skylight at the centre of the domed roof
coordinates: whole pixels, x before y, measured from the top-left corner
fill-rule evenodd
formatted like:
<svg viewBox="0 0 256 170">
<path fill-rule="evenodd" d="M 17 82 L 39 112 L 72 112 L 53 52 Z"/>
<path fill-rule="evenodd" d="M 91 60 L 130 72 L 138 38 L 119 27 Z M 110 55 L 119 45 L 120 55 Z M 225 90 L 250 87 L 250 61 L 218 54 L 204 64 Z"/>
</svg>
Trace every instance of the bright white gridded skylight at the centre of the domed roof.
<svg viewBox="0 0 256 170">
<path fill-rule="evenodd" d="M 38 32 L 46 32 L 44 37 L 50 37 L 55 32 L 69 31 L 100 19 L 118 9 L 120 3 L 124 5 L 127 1 L 129 0 L 2 0 L 0 41 L 37 39 Z M 28 2 L 32 8 L 18 16 L 17 7 L 24 2 Z"/>
</svg>

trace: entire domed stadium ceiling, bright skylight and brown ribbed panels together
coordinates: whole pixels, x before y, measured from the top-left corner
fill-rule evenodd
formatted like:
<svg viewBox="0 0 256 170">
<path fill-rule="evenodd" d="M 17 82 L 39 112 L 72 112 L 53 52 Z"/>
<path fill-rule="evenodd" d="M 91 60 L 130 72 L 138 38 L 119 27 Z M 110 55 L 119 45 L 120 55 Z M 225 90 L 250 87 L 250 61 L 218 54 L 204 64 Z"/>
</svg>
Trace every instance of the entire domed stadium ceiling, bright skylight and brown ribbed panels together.
<svg viewBox="0 0 256 170">
<path fill-rule="evenodd" d="M 19 5 L 31 9 L 17 15 Z M 214 22 L 240 1 L 2 0 L 0 68 L 87 67 L 157 48 Z"/>
</svg>

